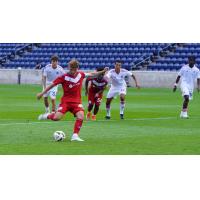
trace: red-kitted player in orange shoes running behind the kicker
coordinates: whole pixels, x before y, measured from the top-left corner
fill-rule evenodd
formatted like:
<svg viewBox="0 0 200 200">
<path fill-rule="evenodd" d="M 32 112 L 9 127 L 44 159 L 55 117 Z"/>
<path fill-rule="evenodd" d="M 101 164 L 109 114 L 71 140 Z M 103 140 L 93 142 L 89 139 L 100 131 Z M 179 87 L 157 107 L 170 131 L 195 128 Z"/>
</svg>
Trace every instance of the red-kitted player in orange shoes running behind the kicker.
<svg viewBox="0 0 200 200">
<path fill-rule="evenodd" d="M 102 71 L 103 68 L 98 68 L 97 72 Z M 91 119 L 91 111 L 94 107 L 92 120 L 96 120 L 96 115 L 99 111 L 99 106 L 103 98 L 103 91 L 105 90 L 108 82 L 104 79 L 104 74 L 100 75 L 97 78 L 87 78 L 85 81 L 85 94 L 88 95 L 88 113 L 86 119 Z M 89 86 L 89 87 L 88 87 Z"/>
</svg>

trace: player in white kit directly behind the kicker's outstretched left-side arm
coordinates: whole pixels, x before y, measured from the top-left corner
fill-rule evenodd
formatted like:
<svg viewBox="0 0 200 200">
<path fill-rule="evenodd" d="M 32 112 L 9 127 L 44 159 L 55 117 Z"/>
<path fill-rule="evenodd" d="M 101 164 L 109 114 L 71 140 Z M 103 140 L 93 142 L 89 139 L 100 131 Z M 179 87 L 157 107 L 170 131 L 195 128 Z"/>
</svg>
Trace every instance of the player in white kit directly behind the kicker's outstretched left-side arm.
<svg viewBox="0 0 200 200">
<path fill-rule="evenodd" d="M 43 69 L 42 73 L 43 90 L 45 90 L 46 87 L 51 85 L 57 77 L 63 75 L 64 73 L 65 73 L 64 69 L 58 65 L 58 57 L 56 55 L 53 55 L 51 57 L 51 64 L 46 65 L 45 68 Z M 49 90 L 46 94 L 44 94 L 43 97 L 44 97 L 44 105 L 46 113 L 50 112 L 48 97 L 50 97 L 51 99 L 52 112 L 55 112 L 57 91 L 58 91 L 58 86 L 55 86 L 51 90 Z"/>
</svg>

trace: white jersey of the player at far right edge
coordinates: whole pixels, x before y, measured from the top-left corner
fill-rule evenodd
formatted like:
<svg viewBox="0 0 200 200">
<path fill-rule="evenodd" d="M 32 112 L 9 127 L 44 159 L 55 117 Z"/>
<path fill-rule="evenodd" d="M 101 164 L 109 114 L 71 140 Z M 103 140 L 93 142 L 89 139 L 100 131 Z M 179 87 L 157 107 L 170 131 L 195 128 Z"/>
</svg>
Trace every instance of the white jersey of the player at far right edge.
<svg viewBox="0 0 200 200">
<path fill-rule="evenodd" d="M 187 87 L 191 91 L 194 89 L 194 82 L 200 78 L 199 69 L 196 66 L 190 68 L 189 65 L 184 65 L 178 75 L 181 76 L 181 88 Z"/>
</svg>

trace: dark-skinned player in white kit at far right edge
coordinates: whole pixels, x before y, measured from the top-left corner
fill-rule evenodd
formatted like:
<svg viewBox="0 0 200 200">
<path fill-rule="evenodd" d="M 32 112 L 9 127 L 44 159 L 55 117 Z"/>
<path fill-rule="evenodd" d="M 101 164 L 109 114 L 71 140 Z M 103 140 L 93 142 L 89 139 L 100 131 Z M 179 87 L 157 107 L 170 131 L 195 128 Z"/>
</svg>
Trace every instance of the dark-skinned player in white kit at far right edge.
<svg viewBox="0 0 200 200">
<path fill-rule="evenodd" d="M 200 72 L 195 66 L 196 59 L 194 56 L 188 57 L 188 64 L 184 65 L 178 73 L 176 82 L 174 84 L 173 91 L 177 89 L 177 84 L 181 79 L 180 88 L 182 91 L 182 96 L 184 98 L 183 107 L 180 114 L 181 118 L 188 118 L 188 104 L 193 98 L 194 82 L 197 80 L 197 90 L 200 90 Z"/>
</svg>

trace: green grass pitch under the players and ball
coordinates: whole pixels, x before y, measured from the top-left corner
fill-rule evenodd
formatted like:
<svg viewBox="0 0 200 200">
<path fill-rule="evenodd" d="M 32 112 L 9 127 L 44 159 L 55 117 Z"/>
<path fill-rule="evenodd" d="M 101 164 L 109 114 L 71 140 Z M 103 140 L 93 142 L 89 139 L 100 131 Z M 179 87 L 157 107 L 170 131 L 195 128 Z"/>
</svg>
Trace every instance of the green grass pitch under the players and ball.
<svg viewBox="0 0 200 200">
<path fill-rule="evenodd" d="M 105 99 L 96 122 L 84 122 L 83 143 L 70 142 L 74 118 L 38 122 L 44 112 L 36 85 L 0 85 L 0 154 L 34 155 L 152 155 L 200 154 L 199 94 L 190 102 L 190 119 L 179 119 L 180 92 L 171 89 L 128 89 L 125 120 L 119 119 L 119 98 L 112 104 L 112 120 L 105 121 Z M 84 92 L 83 92 L 84 93 Z M 59 90 L 59 96 L 62 94 Z M 59 99 L 59 98 L 58 98 Z M 57 101 L 59 102 L 59 101 Z M 87 101 L 83 96 L 86 108 Z M 53 132 L 63 130 L 66 140 L 54 142 Z"/>
</svg>

